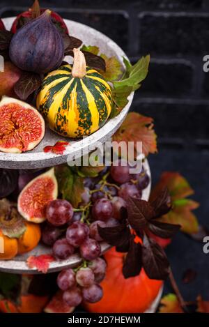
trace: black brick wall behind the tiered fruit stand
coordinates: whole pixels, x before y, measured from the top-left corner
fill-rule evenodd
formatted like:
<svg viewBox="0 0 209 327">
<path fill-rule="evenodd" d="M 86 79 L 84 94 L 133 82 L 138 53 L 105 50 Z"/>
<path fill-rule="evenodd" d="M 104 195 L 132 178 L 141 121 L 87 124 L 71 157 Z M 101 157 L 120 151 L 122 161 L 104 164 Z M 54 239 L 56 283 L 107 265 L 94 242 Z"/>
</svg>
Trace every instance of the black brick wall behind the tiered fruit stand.
<svg viewBox="0 0 209 327">
<path fill-rule="evenodd" d="M 1 1 L 0 15 L 16 15 L 31 2 Z M 203 72 L 203 56 L 209 54 L 209 0 L 41 3 L 106 33 L 132 62 L 150 53 L 150 72 L 132 110 L 153 116 L 162 146 L 208 149 L 209 73 Z"/>
</svg>

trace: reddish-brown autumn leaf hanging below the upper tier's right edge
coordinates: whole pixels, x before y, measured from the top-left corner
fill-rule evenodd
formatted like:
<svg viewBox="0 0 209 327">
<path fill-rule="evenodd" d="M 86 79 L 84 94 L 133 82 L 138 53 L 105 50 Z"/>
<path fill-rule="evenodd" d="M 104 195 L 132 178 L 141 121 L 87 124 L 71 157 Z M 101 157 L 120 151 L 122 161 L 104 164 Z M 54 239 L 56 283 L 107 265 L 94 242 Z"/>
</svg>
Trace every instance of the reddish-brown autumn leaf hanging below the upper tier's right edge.
<svg viewBox="0 0 209 327">
<path fill-rule="evenodd" d="M 142 142 L 144 155 L 157 152 L 155 130 L 153 130 L 153 119 L 150 117 L 130 112 L 125 121 L 113 136 L 116 142 L 134 142 L 135 155 L 137 154 L 137 142 Z"/>
</svg>

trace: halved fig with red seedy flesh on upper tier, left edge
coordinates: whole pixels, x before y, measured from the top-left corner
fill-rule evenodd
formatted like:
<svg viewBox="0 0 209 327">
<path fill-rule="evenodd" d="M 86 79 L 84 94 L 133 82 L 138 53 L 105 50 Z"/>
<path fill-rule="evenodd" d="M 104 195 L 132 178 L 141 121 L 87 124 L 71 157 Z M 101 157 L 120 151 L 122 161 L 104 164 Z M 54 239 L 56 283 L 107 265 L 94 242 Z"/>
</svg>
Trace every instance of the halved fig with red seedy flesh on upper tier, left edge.
<svg viewBox="0 0 209 327">
<path fill-rule="evenodd" d="M 0 101 L 0 151 L 22 153 L 35 148 L 45 135 L 45 121 L 26 102 L 3 96 Z"/>
</svg>

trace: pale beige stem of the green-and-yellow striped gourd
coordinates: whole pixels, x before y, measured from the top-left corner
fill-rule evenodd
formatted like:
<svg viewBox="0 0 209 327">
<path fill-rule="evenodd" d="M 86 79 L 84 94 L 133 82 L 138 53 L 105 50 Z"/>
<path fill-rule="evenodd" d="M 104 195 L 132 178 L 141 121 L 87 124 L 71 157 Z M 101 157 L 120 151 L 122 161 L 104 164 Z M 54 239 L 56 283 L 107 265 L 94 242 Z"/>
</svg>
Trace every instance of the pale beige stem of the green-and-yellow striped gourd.
<svg viewBox="0 0 209 327">
<path fill-rule="evenodd" d="M 86 59 L 83 52 L 79 49 L 73 49 L 74 62 L 72 66 L 72 77 L 83 78 L 86 76 Z"/>
</svg>

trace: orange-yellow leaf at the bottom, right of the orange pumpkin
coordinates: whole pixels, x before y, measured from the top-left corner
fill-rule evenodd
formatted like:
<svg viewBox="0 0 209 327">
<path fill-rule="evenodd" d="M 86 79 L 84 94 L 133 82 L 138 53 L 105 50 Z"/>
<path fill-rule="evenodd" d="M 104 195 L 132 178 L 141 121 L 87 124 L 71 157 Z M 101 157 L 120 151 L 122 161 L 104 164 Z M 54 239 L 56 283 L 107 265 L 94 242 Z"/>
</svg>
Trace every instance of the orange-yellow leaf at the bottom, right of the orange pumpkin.
<svg viewBox="0 0 209 327">
<path fill-rule="evenodd" d="M 167 294 L 160 301 L 160 313 L 184 313 L 175 294 Z"/>
</svg>

